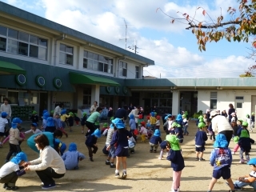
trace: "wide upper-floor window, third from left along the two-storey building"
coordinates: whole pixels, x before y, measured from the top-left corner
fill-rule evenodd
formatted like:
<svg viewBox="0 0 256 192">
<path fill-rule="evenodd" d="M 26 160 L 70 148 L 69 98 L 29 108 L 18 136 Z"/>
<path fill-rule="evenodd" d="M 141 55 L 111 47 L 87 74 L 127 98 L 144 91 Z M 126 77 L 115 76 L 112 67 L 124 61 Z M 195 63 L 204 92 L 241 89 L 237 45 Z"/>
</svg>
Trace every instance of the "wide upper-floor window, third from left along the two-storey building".
<svg viewBox="0 0 256 192">
<path fill-rule="evenodd" d="M 113 73 L 113 59 L 106 58 L 100 54 L 94 54 L 84 50 L 83 68 L 88 70 L 98 70 L 104 73 Z"/>
</svg>

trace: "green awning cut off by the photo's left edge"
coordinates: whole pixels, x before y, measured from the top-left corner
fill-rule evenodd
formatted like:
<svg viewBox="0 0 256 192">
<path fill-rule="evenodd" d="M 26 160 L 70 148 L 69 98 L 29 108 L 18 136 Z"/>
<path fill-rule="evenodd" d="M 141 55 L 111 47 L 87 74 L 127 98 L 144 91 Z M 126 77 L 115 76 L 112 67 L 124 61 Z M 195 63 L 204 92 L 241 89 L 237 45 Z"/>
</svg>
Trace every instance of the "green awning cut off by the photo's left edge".
<svg viewBox="0 0 256 192">
<path fill-rule="evenodd" d="M 0 75 L 1 74 L 26 74 L 26 70 L 23 70 L 14 63 L 0 61 Z"/>
</svg>

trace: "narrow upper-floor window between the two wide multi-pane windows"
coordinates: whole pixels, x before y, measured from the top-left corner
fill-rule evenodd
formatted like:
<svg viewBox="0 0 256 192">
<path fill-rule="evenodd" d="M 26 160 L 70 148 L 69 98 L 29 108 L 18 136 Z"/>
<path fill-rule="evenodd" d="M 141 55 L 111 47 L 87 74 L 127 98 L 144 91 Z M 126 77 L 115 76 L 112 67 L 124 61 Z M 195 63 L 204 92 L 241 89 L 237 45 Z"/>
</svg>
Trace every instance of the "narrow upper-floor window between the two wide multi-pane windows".
<svg viewBox="0 0 256 192">
<path fill-rule="evenodd" d="M 59 50 L 59 63 L 73 66 L 73 47 L 60 44 Z"/>
</svg>

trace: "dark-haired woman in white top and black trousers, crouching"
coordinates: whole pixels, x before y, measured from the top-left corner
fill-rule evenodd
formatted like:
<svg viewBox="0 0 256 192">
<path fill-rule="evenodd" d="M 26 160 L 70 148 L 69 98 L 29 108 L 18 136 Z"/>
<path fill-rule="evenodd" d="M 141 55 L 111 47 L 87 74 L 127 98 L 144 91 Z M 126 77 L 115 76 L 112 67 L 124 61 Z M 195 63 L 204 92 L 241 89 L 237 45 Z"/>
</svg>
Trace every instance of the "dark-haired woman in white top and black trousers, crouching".
<svg viewBox="0 0 256 192">
<path fill-rule="evenodd" d="M 65 164 L 62 157 L 50 146 L 45 134 L 39 134 L 34 138 L 35 146 L 40 150 L 40 157 L 34 161 L 25 162 L 24 170 L 35 170 L 42 181 L 42 189 L 54 188 L 53 178 L 62 178 L 66 173 Z"/>
</svg>

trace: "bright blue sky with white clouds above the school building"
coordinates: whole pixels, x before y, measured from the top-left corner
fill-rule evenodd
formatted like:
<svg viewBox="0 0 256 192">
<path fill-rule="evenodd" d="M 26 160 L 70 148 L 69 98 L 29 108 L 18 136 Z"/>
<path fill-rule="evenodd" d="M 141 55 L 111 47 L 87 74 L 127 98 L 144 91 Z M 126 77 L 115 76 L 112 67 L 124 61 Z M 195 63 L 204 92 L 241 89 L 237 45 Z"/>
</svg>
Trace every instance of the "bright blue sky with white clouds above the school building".
<svg viewBox="0 0 256 192">
<path fill-rule="evenodd" d="M 138 54 L 153 59 L 155 66 L 145 68 L 144 75 L 157 78 L 223 78 L 238 77 L 248 66 L 250 43 L 208 43 L 206 52 L 198 50 L 197 39 L 186 25 L 170 23 L 170 18 L 158 7 L 174 17 L 177 11 L 193 15 L 203 7 L 212 19 L 220 14 L 229 19 L 226 10 L 238 6 L 234 0 L 2 0 L 22 10 L 58 22 L 116 46 L 138 46 Z M 220 7 L 222 9 L 220 9 Z M 210 21 L 199 9 L 196 18 Z M 124 24 L 127 23 L 127 31 Z M 127 35 L 125 36 L 125 34 Z M 120 40 L 122 39 L 122 40 Z M 246 48 L 247 47 L 247 48 Z"/>
</svg>

